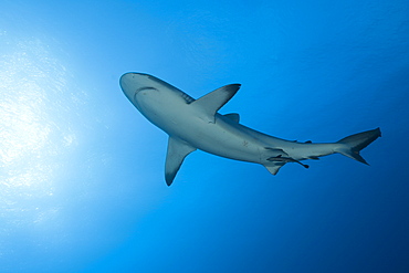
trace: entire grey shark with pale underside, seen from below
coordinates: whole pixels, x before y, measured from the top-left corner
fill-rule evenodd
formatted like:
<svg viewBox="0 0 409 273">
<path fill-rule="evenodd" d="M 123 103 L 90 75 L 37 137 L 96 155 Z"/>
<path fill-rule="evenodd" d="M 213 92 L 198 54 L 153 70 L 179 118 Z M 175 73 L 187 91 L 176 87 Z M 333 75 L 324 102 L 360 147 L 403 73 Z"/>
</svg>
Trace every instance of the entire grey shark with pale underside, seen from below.
<svg viewBox="0 0 409 273">
<path fill-rule="evenodd" d="M 315 144 L 285 140 L 251 129 L 239 123 L 239 114 L 218 113 L 235 95 L 240 84 L 222 86 L 198 99 L 144 73 L 126 73 L 119 84 L 130 103 L 150 123 L 169 135 L 165 164 L 168 186 L 172 183 L 186 156 L 197 149 L 260 164 L 276 175 L 287 162 L 301 164 L 301 160 L 316 160 L 335 153 L 367 164 L 359 151 L 380 137 L 380 129 L 376 128 L 336 143 Z"/>
</svg>

